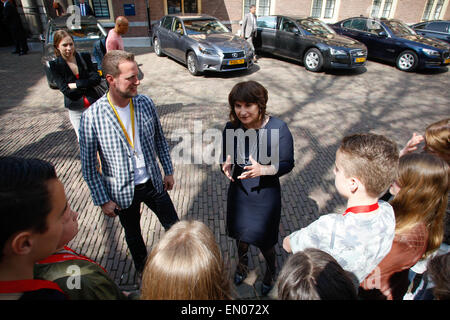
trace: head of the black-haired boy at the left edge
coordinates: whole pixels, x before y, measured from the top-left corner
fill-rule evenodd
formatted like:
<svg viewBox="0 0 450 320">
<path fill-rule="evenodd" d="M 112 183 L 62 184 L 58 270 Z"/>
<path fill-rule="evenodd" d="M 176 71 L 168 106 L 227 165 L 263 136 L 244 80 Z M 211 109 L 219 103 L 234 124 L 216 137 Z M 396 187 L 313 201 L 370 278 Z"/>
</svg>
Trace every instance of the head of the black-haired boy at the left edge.
<svg viewBox="0 0 450 320">
<path fill-rule="evenodd" d="M 38 159 L 0 158 L 0 262 L 39 261 L 60 241 L 70 209 L 55 168 Z"/>
</svg>

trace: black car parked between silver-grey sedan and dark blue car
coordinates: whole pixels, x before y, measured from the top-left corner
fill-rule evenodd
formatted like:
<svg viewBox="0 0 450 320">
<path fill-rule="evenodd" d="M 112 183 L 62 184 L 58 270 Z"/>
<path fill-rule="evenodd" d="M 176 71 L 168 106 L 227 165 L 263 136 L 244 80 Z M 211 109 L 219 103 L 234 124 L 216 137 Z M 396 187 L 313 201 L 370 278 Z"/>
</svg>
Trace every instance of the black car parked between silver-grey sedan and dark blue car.
<svg viewBox="0 0 450 320">
<path fill-rule="evenodd" d="M 367 48 L 315 18 L 263 16 L 257 20 L 255 49 L 303 62 L 318 72 L 323 68 L 364 66 Z"/>
</svg>

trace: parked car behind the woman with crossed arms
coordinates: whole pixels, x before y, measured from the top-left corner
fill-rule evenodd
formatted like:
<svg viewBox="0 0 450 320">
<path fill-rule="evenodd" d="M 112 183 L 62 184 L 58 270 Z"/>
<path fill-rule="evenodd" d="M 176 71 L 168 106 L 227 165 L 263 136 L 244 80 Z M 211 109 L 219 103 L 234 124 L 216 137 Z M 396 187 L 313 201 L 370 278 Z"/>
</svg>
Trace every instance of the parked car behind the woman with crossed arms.
<svg viewBox="0 0 450 320">
<path fill-rule="evenodd" d="M 70 15 L 64 15 L 55 19 L 50 19 L 45 28 L 44 34 L 41 35 L 41 41 L 43 42 L 42 51 L 42 64 L 47 76 L 47 82 L 50 88 L 58 89 L 55 81 L 53 80 L 50 72 L 50 61 L 56 59 L 55 50 L 53 48 L 53 34 L 57 30 L 64 29 L 68 31 L 75 43 L 75 49 L 77 52 L 89 52 L 91 55 L 92 63 L 97 66 L 97 61 L 92 55 L 94 43 L 99 39 L 104 39 L 107 33 L 100 22 L 93 16 L 81 17 L 80 24 L 78 26 L 72 25 L 71 21 L 68 21 Z M 68 25 L 70 27 L 68 27 Z"/>
</svg>

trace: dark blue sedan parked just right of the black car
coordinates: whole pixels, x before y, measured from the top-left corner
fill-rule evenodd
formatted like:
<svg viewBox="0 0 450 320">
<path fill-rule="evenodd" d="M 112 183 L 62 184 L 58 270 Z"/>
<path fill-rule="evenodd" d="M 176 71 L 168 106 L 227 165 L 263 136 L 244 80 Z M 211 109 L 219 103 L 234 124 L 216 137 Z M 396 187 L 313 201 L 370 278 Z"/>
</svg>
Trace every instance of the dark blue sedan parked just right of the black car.
<svg viewBox="0 0 450 320">
<path fill-rule="evenodd" d="M 446 43 L 420 36 L 400 20 L 355 17 L 331 26 L 339 34 L 364 43 L 369 58 L 394 62 L 402 71 L 450 63 L 450 47 Z"/>
</svg>

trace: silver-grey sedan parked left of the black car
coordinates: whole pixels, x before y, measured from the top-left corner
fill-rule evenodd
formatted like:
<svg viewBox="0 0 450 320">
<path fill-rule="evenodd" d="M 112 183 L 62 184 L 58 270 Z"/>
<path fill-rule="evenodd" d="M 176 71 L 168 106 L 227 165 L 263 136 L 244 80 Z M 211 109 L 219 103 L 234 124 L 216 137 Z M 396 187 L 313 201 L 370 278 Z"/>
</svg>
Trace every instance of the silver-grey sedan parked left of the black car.
<svg viewBox="0 0 450 320">
<path fill-rule="evenodd" d="M 167 15 L 152 28 L 153 48 L 185 64 L 189 72 L 226 72 L 253 66 L 254 52 L 217 18 L 207 15 Z"/>
</svg>

